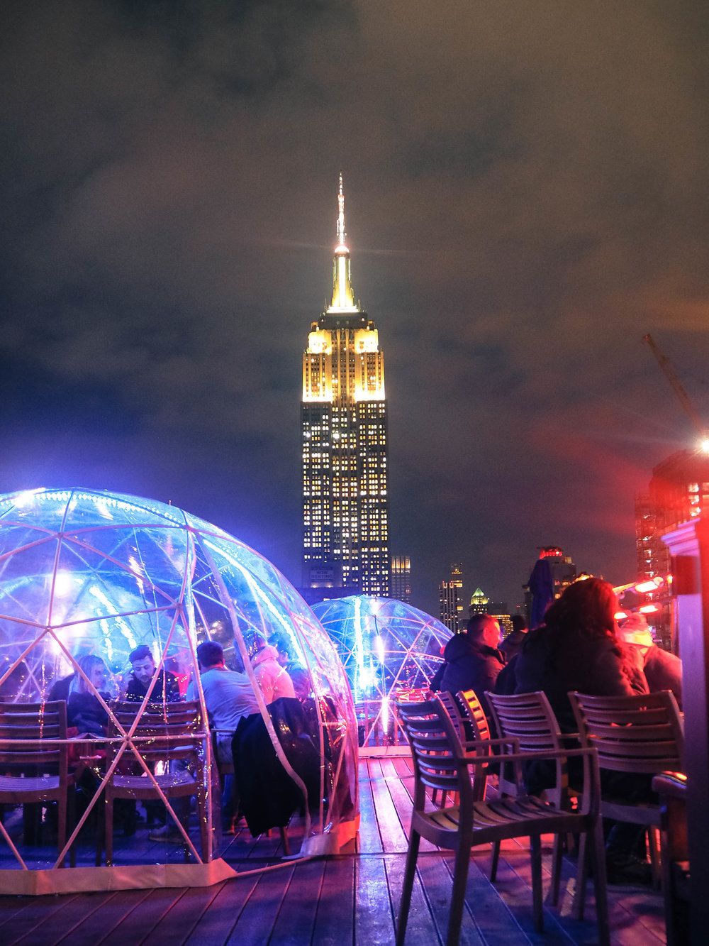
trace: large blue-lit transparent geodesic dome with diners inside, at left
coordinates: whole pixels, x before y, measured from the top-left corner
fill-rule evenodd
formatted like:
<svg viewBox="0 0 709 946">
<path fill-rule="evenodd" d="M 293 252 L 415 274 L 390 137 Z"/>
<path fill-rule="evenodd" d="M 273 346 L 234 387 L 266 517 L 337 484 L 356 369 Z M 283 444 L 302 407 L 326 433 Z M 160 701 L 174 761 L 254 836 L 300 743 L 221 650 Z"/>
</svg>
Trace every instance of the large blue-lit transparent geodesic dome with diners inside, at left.
<svg viewBox="0 0 709 946">
<path fill-rule="evenodd" d="M 200 674 L 207 641 L 219 646 L 201 647 L 211 669 Z M 231 676 L 212 665 L 220 652 Z M 0 496 L 0 717 L 6 875 L 94 863 L 97 841 L 122 869 L 212 867 L 232 778 L 252 809 L 250 831 L 242 822 L 230 835 L 234 863 L 240 833 L 262 860 L 283 851 L 247 839 L 270 828 L 285 827 L 302 853 L 337 851 L 355 833 L 354 707 L 332 642 L 262 555 L 162 502 L 82 489 Z M 27 735 L 54 755 L 10 757 Z M 32 779 L 46 792 L 63 780 L 64 815 L 56 792 L 17 794 Z"/>
</svg>

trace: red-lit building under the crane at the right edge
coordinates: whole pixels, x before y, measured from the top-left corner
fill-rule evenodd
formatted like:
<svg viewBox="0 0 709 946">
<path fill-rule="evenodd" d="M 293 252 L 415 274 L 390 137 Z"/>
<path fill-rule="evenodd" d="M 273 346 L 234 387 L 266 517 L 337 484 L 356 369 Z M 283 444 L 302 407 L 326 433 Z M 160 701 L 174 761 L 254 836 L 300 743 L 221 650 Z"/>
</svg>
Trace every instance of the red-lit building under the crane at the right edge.
<svg viewBox="0 0 709 946">
<path fill-rule="evenodd" d="M 696 450 L 673 453 L 652 470 L 648 493 L 635 498 L 637 578 L 666 578 L 669 551 L 662 536 L 681 522 L 709 514 L 709 454 Z M 652 597 L 652 596 L 650 596 Z M 657 596 L 659 610 L 648 614 L 658 643 L 672 649 L 666 592 Z"/>
</svg>

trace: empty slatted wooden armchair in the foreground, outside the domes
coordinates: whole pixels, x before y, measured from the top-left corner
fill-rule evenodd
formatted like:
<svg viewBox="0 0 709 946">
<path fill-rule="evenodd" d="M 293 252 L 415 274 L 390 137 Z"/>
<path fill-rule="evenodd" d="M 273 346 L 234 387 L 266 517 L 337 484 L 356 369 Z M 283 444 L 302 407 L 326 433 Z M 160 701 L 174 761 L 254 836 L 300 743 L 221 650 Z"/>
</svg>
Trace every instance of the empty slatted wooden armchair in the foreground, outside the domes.
<svg viewBox="0 0 709 946">
<path fill-rule="evenodd" d="M 493 759 L 490 755 L 481 755 L 481 750 L 487 747 L 490 752 L 493 745 L 515 748 L 514 741 L 488 740 L 486 744 L 478 744 L 476 752 L 468 752 L 460 744 L 456 729 L 440 699 L 424 703 L 399 704 L 398 710 L 411 745 L 415 777 L 411 831 L 396 937 L 399 946 L 403 946 L 406 937 L 406 920 L 422 837 L 440 848 L 456 851 L 446 939 L 449 946 L 452 946 L 458 943 L 471 848 L 508 838 L 529 837 L 534 926 L 538 932 L 542 931 L 541 835 L 560 832 L 579 832 L 589 835 L 590 847 L 594 852 L 598 938 L 599 942 L 608 943 L 606 866 L 603 832 L 598 817 L 600 787 L 596 753 L 592 749 L 564 750 L 565 755 L 583 760 L 583 804 L 578 813 L 564 812 L 550 802 L 523 795 L 491 801 L 476 801 L 470 768 L 485 765 Z M 558 755 L 559 753 L 549 751 L 543 753 L 514 751 L 508 753 L 505 759 L 508 764 L 518 766 L 520 762 L 528 762 L 530 759 L 539 757 L 555 760 Z M 455 806 L 441 806 L 426 811 L 427 788 L 438 788 L 448 793 L 458 792 L 460 802 Z"/>
</svg>

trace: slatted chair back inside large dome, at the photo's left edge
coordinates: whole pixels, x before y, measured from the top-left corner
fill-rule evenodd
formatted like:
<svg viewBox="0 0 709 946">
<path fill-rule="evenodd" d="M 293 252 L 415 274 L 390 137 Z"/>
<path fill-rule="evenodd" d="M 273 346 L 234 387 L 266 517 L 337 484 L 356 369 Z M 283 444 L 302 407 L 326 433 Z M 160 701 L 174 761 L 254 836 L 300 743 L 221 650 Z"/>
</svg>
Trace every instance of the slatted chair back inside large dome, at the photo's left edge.
<svg viewBox="0 0 709 946">
<path fill-rule="evenodd" d="M 66 780 L 66 703 L 0 703 L 0 765 Z M 34 744 L 34 745 L 33 745 Z"/>
</svg>

